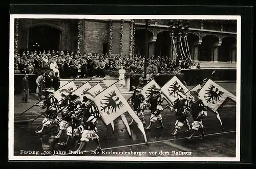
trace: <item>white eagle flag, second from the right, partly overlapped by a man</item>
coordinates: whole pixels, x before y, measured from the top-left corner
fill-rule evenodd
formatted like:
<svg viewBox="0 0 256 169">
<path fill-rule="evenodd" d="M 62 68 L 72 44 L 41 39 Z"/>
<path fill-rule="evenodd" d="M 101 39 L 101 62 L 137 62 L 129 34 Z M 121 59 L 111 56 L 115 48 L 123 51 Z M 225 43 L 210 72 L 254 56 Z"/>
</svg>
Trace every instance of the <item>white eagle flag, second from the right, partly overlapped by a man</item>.
<svg viewBox="0 0 256 169">
<path fill-rule="evenodd" d="M 177 91 L 183 90 L 185 93 L 188 91 L 186 86 L 174 76 L 170 79 L 162 88 L 164 95 L 171 101 L 174 102 L 177 98 Z"/>
</svg>

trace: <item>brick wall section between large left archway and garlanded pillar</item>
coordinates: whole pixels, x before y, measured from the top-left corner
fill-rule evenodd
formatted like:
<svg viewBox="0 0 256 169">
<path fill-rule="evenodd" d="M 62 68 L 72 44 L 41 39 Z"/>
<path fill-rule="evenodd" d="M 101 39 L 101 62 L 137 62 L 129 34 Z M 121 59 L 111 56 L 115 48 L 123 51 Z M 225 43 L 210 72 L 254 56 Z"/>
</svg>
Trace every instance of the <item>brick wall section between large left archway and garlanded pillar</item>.
<svg viewBox="0 0 256 169">
<path fill-rule="evenodd" d="M 102 53 L 109 38 L 109 23 L 85 20 L 84 27 L 84 52 Z"/>
</svg>

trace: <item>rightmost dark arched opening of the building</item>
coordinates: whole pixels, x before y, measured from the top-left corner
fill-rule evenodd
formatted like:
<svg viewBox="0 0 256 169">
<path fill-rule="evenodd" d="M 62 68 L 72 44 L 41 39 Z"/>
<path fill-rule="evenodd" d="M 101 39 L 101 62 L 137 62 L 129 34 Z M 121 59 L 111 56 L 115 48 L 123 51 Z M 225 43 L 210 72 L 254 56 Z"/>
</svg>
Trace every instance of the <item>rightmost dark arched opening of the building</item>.
<svg viewBox="0 0 256 169">
<path fill-rule="evenodd" d="M 219 61 L 231 62 L 236 61 L 237 58 L 237 39 L 234 37 L 225 37 L 219 49 Z"/>
</svg>

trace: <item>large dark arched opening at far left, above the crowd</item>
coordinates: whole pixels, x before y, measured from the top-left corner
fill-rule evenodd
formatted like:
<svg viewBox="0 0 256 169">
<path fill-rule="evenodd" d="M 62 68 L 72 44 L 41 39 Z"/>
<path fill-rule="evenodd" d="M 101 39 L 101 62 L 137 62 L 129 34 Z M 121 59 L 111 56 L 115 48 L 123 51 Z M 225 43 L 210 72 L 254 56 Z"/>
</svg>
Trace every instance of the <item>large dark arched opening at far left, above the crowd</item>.
<svg viewBox="0 0 256 169">
<path fill-rule="evenodd" d="M 29 51 L 60 51 L 61 31 L 51 26 L 35 26 L 29 29 Z"/>
</svg>

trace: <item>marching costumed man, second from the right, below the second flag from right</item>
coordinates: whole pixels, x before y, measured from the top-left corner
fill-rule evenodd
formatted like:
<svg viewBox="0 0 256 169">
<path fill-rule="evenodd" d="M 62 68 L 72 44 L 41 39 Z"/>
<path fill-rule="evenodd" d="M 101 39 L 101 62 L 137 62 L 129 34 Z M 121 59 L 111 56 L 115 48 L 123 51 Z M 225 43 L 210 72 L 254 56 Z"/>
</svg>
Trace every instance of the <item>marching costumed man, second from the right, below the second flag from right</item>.
<svg viewBox="0 0 256 169">
<path fill-rule="evenodd" d="M 175 111 L 175 115 L 177 118 L 176 123 L 175 123 L 175 131 L 172 133 L 172 135 L 177 135 L 178 131 L 184 125 L 186 125 L 188 128 L 188 130 L 186 132 L 191 130 L 189 122 L 187 120 L 187 116 L 190 115 L 191 101 L 189 101 L 187 99 L 187 96 L 183 90 L 178 90 L 176 93 L 177 93 L 178 99 L 176 101 L 174 101 L 174 103 L 172 105 L 169 105 L 170 110 Z"/>
</svg>

